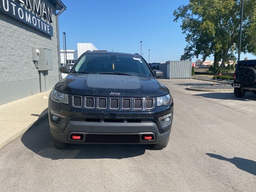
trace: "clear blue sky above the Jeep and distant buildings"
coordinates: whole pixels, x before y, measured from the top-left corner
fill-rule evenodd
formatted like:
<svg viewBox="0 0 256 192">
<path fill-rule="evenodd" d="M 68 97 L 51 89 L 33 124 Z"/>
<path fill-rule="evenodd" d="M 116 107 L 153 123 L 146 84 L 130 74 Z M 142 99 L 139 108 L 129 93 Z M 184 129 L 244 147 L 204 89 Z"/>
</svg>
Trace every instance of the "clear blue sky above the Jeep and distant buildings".
<svg viewBox="0 0 256 192">
<path fill-rule="evenodd" d="M 180 60 L 186 47 L 181 20 L 173 12 L 188 0 L 62 0 L 67 7 L 59 17 L 60 46 L 66 32 L 67 50 L 92 43 L 99 50 L 139 53 L 148 62 Z M 150 49 L 150 54 L 149 50 Z M 241 59 L 256 59 L 241 54 Z M 213 56 L 207 58 L 213 60 Z M 196 61 L 194 58 L 192 61 Z"/>
</svg>

